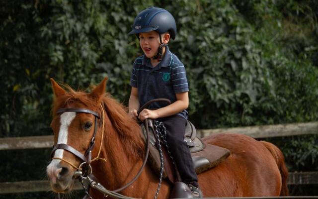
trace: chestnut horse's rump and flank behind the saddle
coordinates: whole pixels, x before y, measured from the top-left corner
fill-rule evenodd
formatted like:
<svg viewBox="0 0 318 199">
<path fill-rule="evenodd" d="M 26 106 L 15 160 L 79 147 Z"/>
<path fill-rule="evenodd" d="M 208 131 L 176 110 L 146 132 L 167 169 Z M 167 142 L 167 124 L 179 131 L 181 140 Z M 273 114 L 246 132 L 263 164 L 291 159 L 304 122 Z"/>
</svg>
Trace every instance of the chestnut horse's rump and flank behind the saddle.
<svg viewBox="0 0 318 199">
<path fill-rule="evenodd" d="M 262 142 L 241 134 L 217 134 L 203 140 L 231 151 L 219 166 L 199 175 L 199 183 L 210 182 L 200 184 L 205 196 L 280 195 L 282 178 L 279 167 Z"/>
</svg>

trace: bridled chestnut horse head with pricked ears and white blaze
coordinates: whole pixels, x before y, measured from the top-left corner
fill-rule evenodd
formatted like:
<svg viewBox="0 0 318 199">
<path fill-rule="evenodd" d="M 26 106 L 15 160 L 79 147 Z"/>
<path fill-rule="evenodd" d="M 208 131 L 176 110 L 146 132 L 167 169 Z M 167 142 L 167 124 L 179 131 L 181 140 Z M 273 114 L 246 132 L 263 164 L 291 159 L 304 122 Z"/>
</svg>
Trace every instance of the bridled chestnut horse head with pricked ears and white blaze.
<svg viewBox="0 0 318 199">
<path fill-rule="evenodd" d="M 75 174 L 81 163 L 90 162 L 99 155 L 103 126 L 101 99 L 105 96 L 105 78 L 91 93 L 69 92 L 51 79 L 54 92 L 54 133 L 52 161 L 47 166 L 51 188 L 57 193 L 67 193 L 74 186 Z M 102 124 L 102 125 L 101 125 Z M 94 145 L 98 147 L 94 147 Z"/>
</svg>

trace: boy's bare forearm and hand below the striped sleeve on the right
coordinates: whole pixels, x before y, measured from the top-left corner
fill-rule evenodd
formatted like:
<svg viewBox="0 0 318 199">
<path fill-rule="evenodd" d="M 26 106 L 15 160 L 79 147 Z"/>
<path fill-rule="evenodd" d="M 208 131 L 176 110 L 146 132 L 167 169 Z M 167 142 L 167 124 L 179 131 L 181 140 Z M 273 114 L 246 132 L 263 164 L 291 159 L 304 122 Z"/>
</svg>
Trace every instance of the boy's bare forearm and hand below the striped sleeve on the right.
<svg viewBox="0 0 318 199">
<path fill-rule="evenodd" d="M 188 107 L 188 92 L 177 93 L 175 94 L 175 97 L 177 100 L 165 107 L 159 108 L 157 110 L 144 109 L 143 111 L 141 111 L 138 118 L 143 121 L 147 118 L 157 119 L 159 117 L 167 117 L 170 115 L 174 115 Z"/>
</svg>

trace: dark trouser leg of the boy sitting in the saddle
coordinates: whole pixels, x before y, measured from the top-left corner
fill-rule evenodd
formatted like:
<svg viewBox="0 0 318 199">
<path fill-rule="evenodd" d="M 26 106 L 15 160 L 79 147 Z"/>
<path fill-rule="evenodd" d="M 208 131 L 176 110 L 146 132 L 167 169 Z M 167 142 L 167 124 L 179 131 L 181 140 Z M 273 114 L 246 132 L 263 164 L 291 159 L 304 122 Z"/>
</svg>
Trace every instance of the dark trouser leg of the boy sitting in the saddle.
<svg viewBox="0 0 318 199">
<path fill-rule="evenodd" d="M 182 182 L 198 186 L 198 177 L 193 167 L 190 149 L 184 141 L 187 120 L 179 115 L 163 117 L 157 120 L 161 121 L 165 126 L 167 144 Z"/>
</svg>

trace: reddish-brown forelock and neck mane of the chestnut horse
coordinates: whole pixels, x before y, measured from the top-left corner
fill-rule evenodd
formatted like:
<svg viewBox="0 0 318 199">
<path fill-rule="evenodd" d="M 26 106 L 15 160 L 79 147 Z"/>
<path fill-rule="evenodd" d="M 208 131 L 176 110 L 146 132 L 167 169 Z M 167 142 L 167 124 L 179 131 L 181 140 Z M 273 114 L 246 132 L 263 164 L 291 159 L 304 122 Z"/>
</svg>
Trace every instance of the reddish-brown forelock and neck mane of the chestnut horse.
<svg viewBox="0 0 318 199">
<path fill-rule="evenodd" d="M 70 107 L 72 103 L 81 103 L 86 108 L 99 110 L 99 104 L 102 102 L 105 109 L 105 113 L 108 115 L 111 125 L 115 131 L 119 134 L 119 138 L 124 146 L 125 153 L 129 158 L 142 158 L 145 151 L 145 143 L 141 137 L 140 126 L 131 118 L 127 113 L 127 108 L 113 99 L 110 94 L 106 93 L 101 101 L 96 103 L 88 97 L 84 91 L 75 91 L 69 85 L 64 85 L 68 90 L 64 95 L 59 98 L 55 98 L 52 105 L 52 115 L 56 115 L 56 112 L 61 107 Z M 93 110 L 94 110 L 93 109 Z M 100 112 L 101 113 L 101 112 Z M 105 141 L 108 142 L 106 137 Z M 107 152 L 111 152 L 108 150 Z"/>
</svg>

